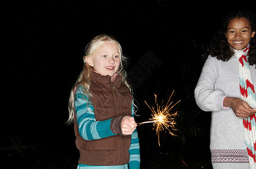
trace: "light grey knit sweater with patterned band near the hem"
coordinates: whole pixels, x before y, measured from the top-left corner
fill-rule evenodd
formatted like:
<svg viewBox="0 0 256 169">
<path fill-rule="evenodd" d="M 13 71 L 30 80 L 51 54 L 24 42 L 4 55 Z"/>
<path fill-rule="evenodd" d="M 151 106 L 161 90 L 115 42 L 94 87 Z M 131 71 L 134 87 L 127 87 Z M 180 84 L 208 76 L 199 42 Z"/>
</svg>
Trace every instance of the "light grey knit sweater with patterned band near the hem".
<svg viewBox="0 0 256 169">
<path fill-rule="evenodd" d="M 256 89 L 255 65 L 250 66 Z M 240 98 L 238 60 L 217 60 L 209 56 L 203 66 L 195 100 L 200 109 L 212 112 L 211 155 L 214 168 L 249 168 L 242 118 L 236 117 L 231 108 L 223 106 L 225 97 Z"/>
</svg>

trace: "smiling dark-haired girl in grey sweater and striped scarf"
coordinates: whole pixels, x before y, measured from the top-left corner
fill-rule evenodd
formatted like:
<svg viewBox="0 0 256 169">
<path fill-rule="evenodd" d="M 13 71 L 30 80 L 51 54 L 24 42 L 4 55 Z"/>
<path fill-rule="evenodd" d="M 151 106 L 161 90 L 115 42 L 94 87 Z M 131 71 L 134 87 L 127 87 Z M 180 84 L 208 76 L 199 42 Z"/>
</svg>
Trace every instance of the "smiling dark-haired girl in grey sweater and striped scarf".
<svg viewBox="0 0 256 169">
<path fill-rule="evenodd" d="M 212 38 L 197 87 L 198 106 L 212 112 L 214 168 L 255 168 L 255 16 L 233 11 Z"/>
</svg>

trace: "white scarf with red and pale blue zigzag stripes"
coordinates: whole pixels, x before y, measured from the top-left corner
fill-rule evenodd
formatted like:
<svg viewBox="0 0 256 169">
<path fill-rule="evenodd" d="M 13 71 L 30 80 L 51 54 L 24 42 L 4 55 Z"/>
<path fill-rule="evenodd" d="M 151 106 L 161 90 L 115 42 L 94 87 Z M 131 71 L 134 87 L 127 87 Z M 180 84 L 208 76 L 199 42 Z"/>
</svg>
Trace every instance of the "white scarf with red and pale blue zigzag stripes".
<svg viewBox="0 0 256 169">
<path fill-rule="evenodd" d="M 241 99 L 246 101 L 251 108 L 256 108 L 256 96 L 249 63 L 247 61 L 250 45 L 244 50 L 236 51 L 235 56 L 238 58 L 239 83 Z M 255 150 L 256 150 L 256 122 L 255 114 L 243 119 L 244 137 L 247 146 L 250 168 L 256 168 Z"/>
</svg>

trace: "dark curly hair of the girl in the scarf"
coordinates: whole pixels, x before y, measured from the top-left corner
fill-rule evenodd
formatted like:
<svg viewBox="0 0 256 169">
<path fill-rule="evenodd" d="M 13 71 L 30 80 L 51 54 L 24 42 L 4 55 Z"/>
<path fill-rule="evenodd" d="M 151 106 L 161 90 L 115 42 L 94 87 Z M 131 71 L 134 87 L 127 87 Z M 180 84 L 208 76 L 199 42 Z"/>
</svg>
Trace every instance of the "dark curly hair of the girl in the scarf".
<svg viewBox="0 0 256 169">
<path fill-rule="evenodd" d="M 249 20 L 251 25 L 251 30 L 255 32 L 256 23 L 255 23 L 255 15 L 253 12 L 249 10 L 233 10 L 225 19 L 223 20 L 223 28 L 212 38 L 210 45 L 208 45 L 206 51 L 204 52 L 203 59 L 207 59 L 208 55 L 212 57 L 216 57 L 217 60 L 228 61 L 233 56 L 234 52 L 228 44 L 225 33 L 227 32 L 227 26 L 229 21 L 234 18 L 245 17 Z M 251 38 L 250 41 L 250 50 L 248 63 L 250 65 L 256 64 L 256 41 L 255 37 Z M 256 68 L 255 68 L 256 69 Z"/>
</svg>

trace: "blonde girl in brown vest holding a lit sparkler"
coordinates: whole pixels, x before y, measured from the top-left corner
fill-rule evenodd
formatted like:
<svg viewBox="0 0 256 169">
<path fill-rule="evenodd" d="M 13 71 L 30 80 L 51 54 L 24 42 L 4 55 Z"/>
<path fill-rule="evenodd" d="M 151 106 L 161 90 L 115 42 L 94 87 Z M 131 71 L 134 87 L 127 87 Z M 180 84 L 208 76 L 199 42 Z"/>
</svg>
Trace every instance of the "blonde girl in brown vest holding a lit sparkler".
<svg viewBox="0 0 256 169">
<path fill-rule="evenodd" d="M 78 168 L 139 168 L 133 96 L 126 82 L 120 43 L 98 35 L 87 45 L 84 68 L 71 90 Z"/>
</svg>

